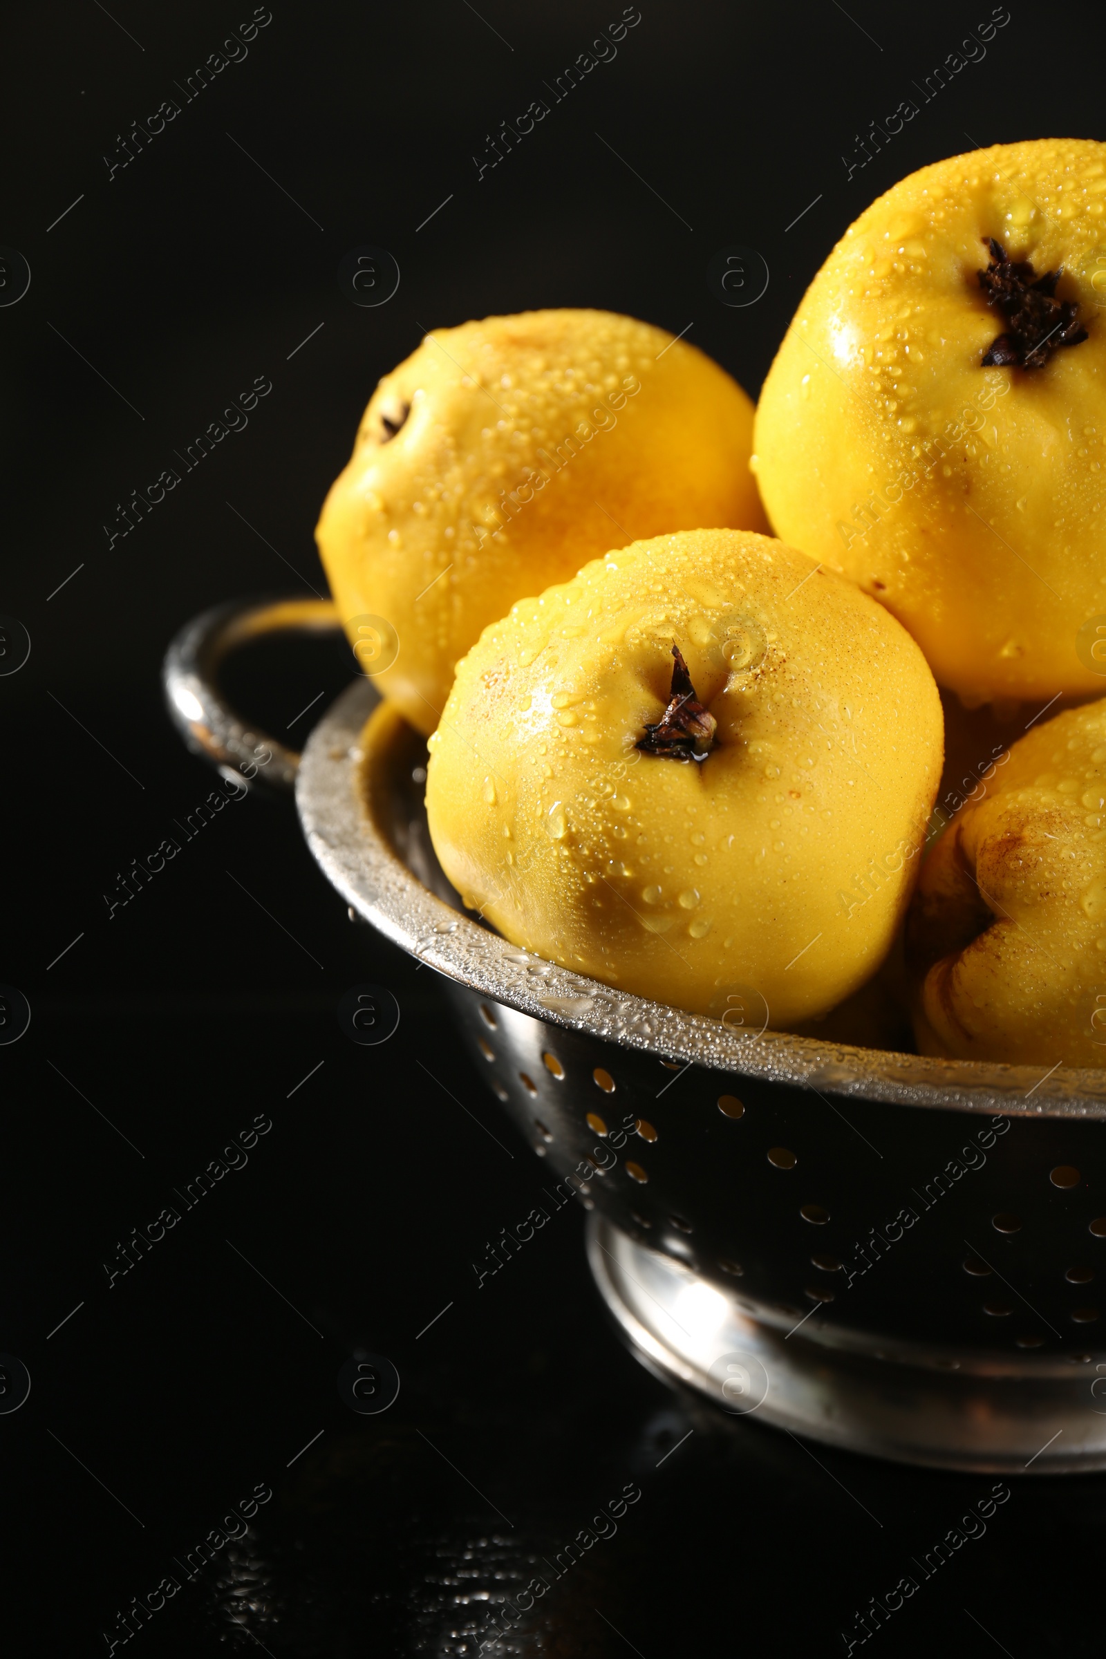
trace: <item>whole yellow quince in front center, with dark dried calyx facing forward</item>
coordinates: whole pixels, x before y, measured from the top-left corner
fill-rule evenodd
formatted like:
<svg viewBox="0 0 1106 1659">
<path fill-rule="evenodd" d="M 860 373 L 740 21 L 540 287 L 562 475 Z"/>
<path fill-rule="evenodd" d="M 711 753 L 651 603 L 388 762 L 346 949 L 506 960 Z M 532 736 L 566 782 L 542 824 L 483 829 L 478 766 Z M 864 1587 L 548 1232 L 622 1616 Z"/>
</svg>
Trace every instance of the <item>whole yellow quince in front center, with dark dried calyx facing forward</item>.
<svg viewBox="0 0 1106 1659">
<path fill-rule="evenodd" d="M 429 740 L 449 881 L 609 985 L 784 1027 L 885 956 L 942 761 L 925 660 L 783 542 L 685 531 L 524 599 Z"/>
</svg>

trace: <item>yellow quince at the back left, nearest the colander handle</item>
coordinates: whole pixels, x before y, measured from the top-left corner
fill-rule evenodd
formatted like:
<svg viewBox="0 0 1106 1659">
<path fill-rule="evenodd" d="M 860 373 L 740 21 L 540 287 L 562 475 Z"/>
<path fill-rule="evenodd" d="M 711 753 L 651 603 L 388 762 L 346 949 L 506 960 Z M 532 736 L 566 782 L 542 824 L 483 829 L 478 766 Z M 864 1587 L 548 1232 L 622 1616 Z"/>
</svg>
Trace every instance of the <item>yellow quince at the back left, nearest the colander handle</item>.
<svg viewBox="0 0 1106 1659">
<path fill-rule="evenodd" d="M 751 433 L 725 370 L 632 317 L 424 335 L 376 387 L 315 531 L 365 672 L 433 732 L 481 630 L 612 539 L 766 528 Z"/>
</svg>

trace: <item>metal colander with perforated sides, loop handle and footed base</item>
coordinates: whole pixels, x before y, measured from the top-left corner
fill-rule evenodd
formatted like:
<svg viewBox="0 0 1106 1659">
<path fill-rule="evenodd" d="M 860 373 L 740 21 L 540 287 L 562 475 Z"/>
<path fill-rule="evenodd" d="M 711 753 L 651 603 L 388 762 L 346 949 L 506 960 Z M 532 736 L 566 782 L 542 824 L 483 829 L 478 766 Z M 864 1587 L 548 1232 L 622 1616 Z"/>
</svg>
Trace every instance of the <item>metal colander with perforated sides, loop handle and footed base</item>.
<svg viewBox="0 0 1106 1659">
<path fill-rule="evenodd" d="M 216 765 L 240 771 L 257 745 L 219 657 L 289 625 L 333 612 L 221 607 L 174 640 L 169 707 Z M 638 1357 L 859 1452 L 1106 1468 L 1106 1072 L 730 1029 L 511 946 L 434 859 L 424 740 L 388 707 L 366 725 L 375 705 L 355 682 L 315 727 L 307 841 L 355 911 L 444 975 L 551 1206 L 590 1211 L 590 1266 Z M 292 776 L 297 757 L 264 742 Z"/>
</svg>

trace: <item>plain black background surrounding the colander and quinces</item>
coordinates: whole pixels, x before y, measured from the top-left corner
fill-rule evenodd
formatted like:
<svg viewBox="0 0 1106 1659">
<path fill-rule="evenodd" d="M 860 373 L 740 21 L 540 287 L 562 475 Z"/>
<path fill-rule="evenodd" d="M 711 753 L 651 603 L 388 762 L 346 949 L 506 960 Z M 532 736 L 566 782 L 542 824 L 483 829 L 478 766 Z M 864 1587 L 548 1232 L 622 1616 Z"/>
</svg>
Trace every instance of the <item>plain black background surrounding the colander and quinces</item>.
<svg viewBox="0 0 1106 1659">
<path fill-rule="evenodd" d="M 1011 0 L 985 60 L 922 105 L 983 0 L 642 0 L 614 61 L 478 179 L 488 133 L 618 5 L 274 0 L 249 56 L 186 103 L 176 83 L 250 10 L 88 0 L 8 7 L 3 25 L 0 242 L 32 269 L 0 309 L 0 611 L 32 637 L 0 679 L 0 979 L 33 1009 L 0 1048 L 0 1349 L 33 1379 L 0 1417 L 8 1646 L 106 1652 L 116 1613 L 267 1483 L 250 1538 L 134 1652 L 473 1654 L 488 1598 L 637 1480 L 617 1538 L 494 1652 L 842 1652 L 852 1611 L 992 1478 L 696 1415 L 604 1324 L 580 1214 L 478 1291 L 471 1262 L 541 1171 L 429 971 L 350 926 L 290 806 L 229 806 L 113 919 L 104 894 L 211 788 L 163 710 L 167 640 L 221 599 L 325 587 L 318 506 L 424 327 L 541 305 L 690 324 L 756 395 L 879 191 L 972 143 L 1101 136 L 1106 20 Z M 181 114 L 109 178 L 103 156 L 164 98 Z M 917 118 L 847 178 L 857 131 L 904 98 Z M 360 244 L 400 264 L 378 309 L 337 282 Z M 771 272 L 748 309 L 706 284 L 733 244 Z M 247 430 L 109 547 L 116 503 L 257 375 L 272 392 Z M 332 650 L 255 669 L 242 695 L 277 732 L 325 693 L 297 740 L 343 684 Z M 378 1048 L 335 1019 L 360 980 L 401 1005 Z M 431 1053 L 444 1087 L 415 1063 Z M 249 1165 L 109 1289 L 116 1241 L 257 1113 L 272 1130 Z M 337 1394 L 358 1344 L 401 1375 L 381 1417 Z M 880 1651 L 1098 1651 L 1106 1483 L 1013 1488 Z"/>
</svg>

